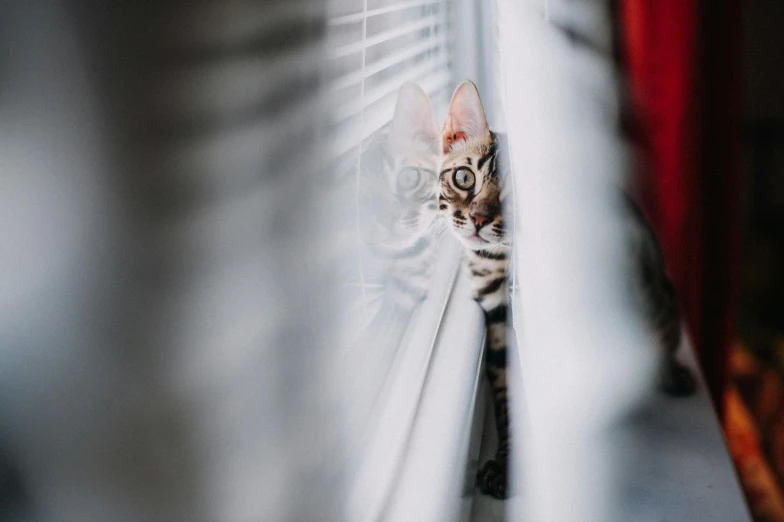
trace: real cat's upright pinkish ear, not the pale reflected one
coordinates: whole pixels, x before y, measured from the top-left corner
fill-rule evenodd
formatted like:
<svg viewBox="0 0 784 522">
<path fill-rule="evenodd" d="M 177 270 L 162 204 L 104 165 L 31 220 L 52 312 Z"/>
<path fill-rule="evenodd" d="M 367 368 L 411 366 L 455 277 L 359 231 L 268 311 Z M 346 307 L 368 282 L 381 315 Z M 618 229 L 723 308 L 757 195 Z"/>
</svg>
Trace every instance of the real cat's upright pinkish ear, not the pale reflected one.
<svg viewBox="0 0 784 522">
<path fill-rule="evenodd" d="M 444 129 L 441 131 L 441 144 L 444 153 L 452 150 L 456 143 L 474 138 L 490 136 L 485 109 L 479 99 L 476 85 L 465 80 L 455 89 Z"/>
</svg>

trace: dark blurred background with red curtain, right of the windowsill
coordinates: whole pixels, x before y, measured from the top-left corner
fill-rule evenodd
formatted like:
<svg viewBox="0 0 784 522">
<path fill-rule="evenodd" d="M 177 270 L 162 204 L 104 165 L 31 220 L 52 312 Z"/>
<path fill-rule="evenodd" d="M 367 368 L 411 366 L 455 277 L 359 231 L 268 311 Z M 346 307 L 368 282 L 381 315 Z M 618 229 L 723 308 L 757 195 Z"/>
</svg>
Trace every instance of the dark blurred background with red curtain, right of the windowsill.
<svg viewBox="0 0 784 522">
<path fill-rule="evenodd" d="M 784 520 L 777 2 L 619 2 L 658 229 L 756 520 Z M 647 116 L 646 116 L 647 114 Z"/>
</svg>

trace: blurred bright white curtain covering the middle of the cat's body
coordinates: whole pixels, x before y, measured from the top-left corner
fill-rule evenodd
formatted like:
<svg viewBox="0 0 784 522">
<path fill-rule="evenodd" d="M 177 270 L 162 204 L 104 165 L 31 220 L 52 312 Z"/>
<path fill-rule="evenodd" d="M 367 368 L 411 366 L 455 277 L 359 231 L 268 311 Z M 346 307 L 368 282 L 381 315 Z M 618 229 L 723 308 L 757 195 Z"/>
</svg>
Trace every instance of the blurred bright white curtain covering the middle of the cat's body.
<svg viewBox="0 0 784 522">
<path fill-rule="evenodd" d="M 629 312 L 607 2 L 499 0 L 514 170 L 514 520 L 627 520 L 613 430 L 655 349 Z M 510 363 L 511 364 L 511 363 Z M 517 429 L 514 429 L 514 428 Z"/>
</svg>

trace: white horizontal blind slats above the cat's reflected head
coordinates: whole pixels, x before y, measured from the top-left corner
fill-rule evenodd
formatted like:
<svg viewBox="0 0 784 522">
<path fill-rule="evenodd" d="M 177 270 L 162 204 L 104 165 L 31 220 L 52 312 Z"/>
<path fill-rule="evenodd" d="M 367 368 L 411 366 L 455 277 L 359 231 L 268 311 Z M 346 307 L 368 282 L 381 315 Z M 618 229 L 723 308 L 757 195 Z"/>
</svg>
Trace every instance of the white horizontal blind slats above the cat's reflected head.
<svg viewBox="0 0 784 522">
<path fill-rule="evenodd" d="M 451 94 L 451 0 L 330 0 L 328 89 L 333 157 L 351 159 L 392 119 L 403 83 L 436 112 Z"/>
</svg>

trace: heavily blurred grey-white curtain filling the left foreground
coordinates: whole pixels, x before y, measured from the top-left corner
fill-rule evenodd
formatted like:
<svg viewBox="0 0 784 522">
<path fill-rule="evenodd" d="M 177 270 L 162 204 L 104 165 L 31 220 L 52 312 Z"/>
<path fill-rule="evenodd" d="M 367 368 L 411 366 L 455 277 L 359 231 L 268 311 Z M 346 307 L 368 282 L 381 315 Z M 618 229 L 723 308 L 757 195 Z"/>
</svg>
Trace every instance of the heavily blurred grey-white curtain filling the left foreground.
<svg viewBox="0 0 784 522">
<path fill-rule="evenodd" d="M 0 518 L 342 519 L 325 27 L 0 6 Z"/>
</svg>

